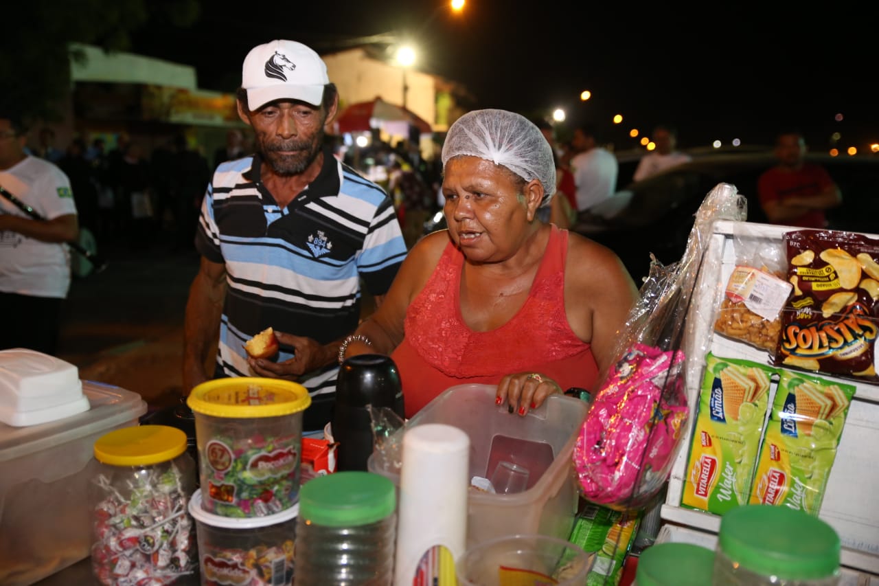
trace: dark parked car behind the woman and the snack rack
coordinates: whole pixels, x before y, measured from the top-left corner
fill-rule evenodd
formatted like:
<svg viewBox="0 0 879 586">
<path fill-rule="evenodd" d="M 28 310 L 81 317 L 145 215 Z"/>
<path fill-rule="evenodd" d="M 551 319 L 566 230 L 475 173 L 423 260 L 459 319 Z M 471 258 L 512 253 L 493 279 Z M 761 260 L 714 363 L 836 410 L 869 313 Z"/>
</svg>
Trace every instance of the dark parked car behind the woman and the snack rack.
<svg viewBox="0 0 879 586">
<path fill-rule="evenodd" d="M 879 231 L 879 157 L 811 153 L 807 159 L 824 165 L 842 192 L 842 204 L 827 212 L 830 227 Z M 581 216 L 573 231 L 614 250 L 640 282 L 650 267 L 650 253 L 664 264 L 680 259 L 696 210 L 719 183 L 729 183 L 745 195 L 749 222 L 766 223 L 759 206 L 757 180 L 773 165 L 771 150 L 697 157 L 622 188 L 605 204 L 606 217 Z"/>
</svg>

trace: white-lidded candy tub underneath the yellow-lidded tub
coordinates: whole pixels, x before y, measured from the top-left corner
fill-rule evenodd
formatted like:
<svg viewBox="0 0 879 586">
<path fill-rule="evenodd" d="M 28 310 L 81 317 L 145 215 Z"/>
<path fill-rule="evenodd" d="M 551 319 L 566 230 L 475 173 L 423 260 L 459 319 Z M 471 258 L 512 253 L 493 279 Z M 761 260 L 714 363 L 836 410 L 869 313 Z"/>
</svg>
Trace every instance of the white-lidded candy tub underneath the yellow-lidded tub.
<svg viewBox="0 0 879 586">
<path fill-rule="evenodd" d="M 202 586 L 285 586 L 293 582 L 299 504 L 280 513 L 235 518 L 203 509 L 201 489 L 189 501 L 199 538 Z"/>
</svg>

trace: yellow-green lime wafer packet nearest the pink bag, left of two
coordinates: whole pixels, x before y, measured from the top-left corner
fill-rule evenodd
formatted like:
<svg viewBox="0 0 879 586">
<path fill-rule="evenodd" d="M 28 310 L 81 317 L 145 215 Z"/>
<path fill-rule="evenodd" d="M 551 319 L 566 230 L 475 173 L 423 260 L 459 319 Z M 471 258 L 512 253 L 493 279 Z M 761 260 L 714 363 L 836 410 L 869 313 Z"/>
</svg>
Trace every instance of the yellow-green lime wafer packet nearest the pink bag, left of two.
<svg viewBox="0 0 879 586">
<path fill-rule="evenodd" d="M 683 506 L 723 515 L 748 502 L 774 372 L 708 353 Z"/>
</svg>

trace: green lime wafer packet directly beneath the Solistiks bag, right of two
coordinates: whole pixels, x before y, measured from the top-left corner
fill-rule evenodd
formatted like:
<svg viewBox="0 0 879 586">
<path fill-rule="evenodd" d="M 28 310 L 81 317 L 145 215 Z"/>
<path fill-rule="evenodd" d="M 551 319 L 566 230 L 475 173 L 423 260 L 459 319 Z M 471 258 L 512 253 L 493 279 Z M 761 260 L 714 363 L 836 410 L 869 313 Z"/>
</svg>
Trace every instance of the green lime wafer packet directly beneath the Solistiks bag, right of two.
<svg viewBox="0 0 879 586">
<path fill-rule="evenodd" d="M 854 390 L 854 385 L 781 370 L 752 503 L 786 505 L 817 516 Z"/>
</svg>

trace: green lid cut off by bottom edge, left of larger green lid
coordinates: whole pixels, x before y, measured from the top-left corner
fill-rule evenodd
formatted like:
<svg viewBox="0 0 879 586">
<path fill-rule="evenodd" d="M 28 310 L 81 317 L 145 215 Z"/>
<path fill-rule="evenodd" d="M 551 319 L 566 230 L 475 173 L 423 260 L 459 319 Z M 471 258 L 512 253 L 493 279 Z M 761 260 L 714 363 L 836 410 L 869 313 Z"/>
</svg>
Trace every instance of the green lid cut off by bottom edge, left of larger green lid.
<svg viewBox="0 0 879 586">
<path fill-rule="evenodd" d="M 637 586 L 705 586 L 714 575 L 713 550 L 691 543 L 657 543 L 638 556 Z"/>
</svg>

